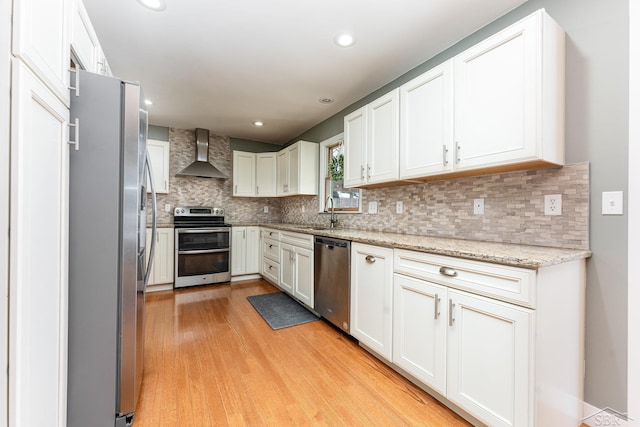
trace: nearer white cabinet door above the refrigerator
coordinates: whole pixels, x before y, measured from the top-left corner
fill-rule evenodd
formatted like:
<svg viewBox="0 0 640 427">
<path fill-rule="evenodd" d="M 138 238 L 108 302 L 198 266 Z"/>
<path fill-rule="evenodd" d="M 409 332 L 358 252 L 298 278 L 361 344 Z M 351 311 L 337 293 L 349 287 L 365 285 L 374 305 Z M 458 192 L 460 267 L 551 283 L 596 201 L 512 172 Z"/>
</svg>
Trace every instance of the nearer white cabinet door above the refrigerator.
<svg viewBox="0 0 640 427">
<path fill-rule="evenodd" d="M 72 0 L 73 26 L 71 28 L 71 51 L 80 62 L 82 69 L 95 73 L 98 71 L 98 51 L 100 45 L 87 10 L 82 0 Z"/>
</svg>

